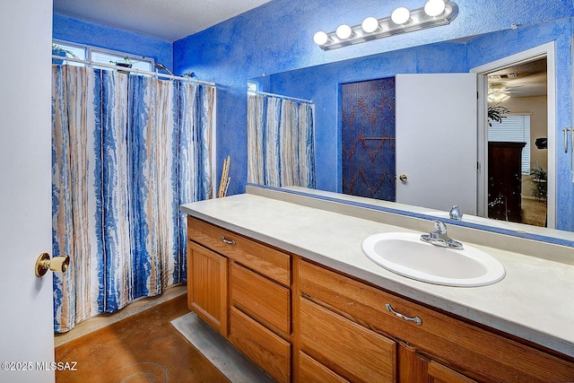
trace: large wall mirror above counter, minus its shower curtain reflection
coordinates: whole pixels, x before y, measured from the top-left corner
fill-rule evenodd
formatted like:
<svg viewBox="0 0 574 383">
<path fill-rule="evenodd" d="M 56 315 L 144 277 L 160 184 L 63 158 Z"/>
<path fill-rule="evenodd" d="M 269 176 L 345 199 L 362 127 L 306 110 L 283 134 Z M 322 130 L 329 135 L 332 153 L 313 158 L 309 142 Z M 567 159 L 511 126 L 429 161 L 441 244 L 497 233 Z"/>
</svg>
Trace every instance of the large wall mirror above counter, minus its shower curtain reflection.
<svg viewBox="0 0 574 383">
<path fill-rule="evenodd" d="M 561 134 L 562 127 L 571 126 L 571 28 L 570 19 L 519 26 L 265 74 L 250 83 L 259 91 L 313 101 L 317 190 L 395 201 L 405 211 L 447 218 L 452 205 L 461 205 L 484 228 L 571 243 L 572 148 Z M 446 74 L 456 76 L 441 77 Z M 370 93 L 373 88 L 378 96 Z M 415 108 L 415 103 L 426 108 Z M 379 131 L 345 138 L 349 121 L 361 118 Z M 495 131 L 500 124 L 510 127 Z M 499 135 L 509 129 L 513 133 Z M 405 143 L 415 144 L 406 150 L 413 170 L 399 161 Z M 388 163 L 359 164 L 362 170 L 377 168 L 376 177 L 389 178 L 392 187 L 379 194 L 373 185 L 349 187 L 347 168 L 355 167 L 353 181 L 367 177 L 357 177 L 356 165 L 347 163 L 355 147 L 393 151 L 384 160 Z M 418 184 L 425 174 L 428 179 Z M 500 177 L 505 185 L 494 185 Z M 413 196 L 404 196 L 405 187 L 414 190 Z"/>
</svg>

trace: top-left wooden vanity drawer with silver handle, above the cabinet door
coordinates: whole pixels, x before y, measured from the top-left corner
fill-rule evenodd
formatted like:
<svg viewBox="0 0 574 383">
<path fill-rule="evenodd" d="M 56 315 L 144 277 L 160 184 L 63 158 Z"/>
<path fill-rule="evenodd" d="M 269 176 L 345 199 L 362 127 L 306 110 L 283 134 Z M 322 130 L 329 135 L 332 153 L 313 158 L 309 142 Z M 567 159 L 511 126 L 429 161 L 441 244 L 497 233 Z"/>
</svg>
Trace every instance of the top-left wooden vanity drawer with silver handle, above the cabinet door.
<svg viewBox="0 0 574 383">
<path fill-rule="evenodd" d="M 187 235 L 189 239 L 222 253 L 225 257 L 246 265 L 278 283 L 286 286 L 291 284 L 291 257 L 279 250 L 191 216 L 187 217 Z"/>
</svg>

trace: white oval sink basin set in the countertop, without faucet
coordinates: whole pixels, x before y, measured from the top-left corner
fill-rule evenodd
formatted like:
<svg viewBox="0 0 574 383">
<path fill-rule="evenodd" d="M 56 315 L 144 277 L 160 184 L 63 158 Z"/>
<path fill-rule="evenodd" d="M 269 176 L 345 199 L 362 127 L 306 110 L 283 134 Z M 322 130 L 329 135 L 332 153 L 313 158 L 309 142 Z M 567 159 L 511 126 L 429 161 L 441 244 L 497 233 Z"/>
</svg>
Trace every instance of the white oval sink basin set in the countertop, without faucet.
<svg viewBox="0 0 574 383">
<path fill-rule="evenodd" d="M 443 248 L 421 235 L 387 232 L 362 242 L 367 257 L 387 270 L 418 281 L 445 286 L 484 286 L 504 278 L 504 266 L 478 248 Z"/>
</svg>

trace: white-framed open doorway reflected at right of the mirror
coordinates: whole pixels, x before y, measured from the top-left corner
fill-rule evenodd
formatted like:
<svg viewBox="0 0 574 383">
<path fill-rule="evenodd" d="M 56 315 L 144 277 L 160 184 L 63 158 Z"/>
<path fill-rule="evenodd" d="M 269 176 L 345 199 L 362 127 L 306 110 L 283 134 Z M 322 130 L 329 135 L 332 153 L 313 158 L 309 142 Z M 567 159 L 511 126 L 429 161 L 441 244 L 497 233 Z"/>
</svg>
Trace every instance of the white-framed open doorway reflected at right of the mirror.
<svg viewBox="0 0 574 383">
<path fill-rule="evenodd" d="M 553 62 L 549 43 L 471 71 L 479 79 L 479 215 L 555 225 Z"/>
</svg>

